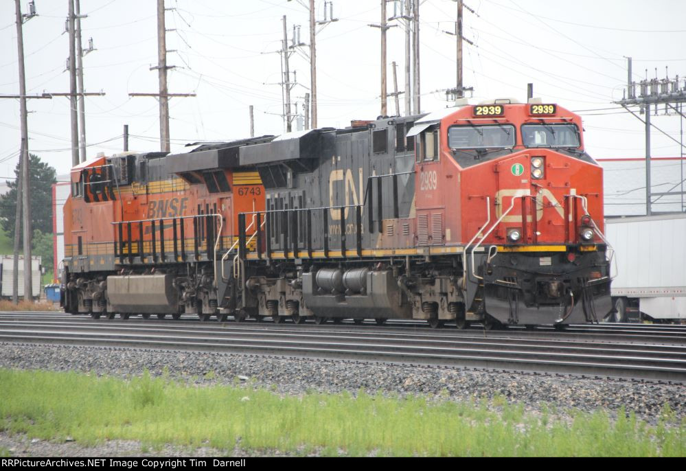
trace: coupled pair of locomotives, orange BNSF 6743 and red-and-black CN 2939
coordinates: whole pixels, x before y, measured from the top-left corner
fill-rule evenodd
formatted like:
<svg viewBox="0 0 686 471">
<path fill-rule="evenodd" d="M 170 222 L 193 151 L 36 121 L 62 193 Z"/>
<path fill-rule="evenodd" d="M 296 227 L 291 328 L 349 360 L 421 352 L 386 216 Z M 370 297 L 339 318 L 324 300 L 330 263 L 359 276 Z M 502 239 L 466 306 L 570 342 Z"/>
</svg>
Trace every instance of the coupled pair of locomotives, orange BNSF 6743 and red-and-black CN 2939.
<svg viewBox="0 0 686 471">
<path fill-rule="evenodd" d="M 611 310 L 578 115 L 495 100 L 71 171 L 63 306 L 93 317 L 432 327 Z"/>
</svg>

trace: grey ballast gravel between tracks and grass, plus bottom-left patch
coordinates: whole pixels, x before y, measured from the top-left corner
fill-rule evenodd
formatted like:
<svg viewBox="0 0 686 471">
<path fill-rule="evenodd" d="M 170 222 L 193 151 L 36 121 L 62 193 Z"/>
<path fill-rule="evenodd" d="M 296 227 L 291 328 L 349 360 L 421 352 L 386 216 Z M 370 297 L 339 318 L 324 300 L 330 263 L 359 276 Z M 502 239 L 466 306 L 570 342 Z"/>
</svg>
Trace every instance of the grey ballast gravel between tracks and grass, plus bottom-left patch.
<svg viewBox="0 0 686 471">
<path fill-rule="evenodd" d="M 16 343 L 0 343 L 0 367 L 78 371 L 122 378 L 149 371 L 152 376 L 168 374 L 194 384 L 264 387 L 284 395 L 308 391 L 354 393 L 363 389 L 368 393 L 426 395 L 457 401 L 497 397 L 524 404 L 531 413 L 538 413 L 543 407 L 554 408 L 563 418 L 564 411 L 570 408 L 602 409 L 615 415 L 624 407 L 627 413 L 634 412 L 650 423 L 656 422 L 665 404 L 669 404 L 679 420 L 686 417 L 686 387 L 678 383 L 349 360 Z M 27 439 L 5 434 L 0 434 L 0 447 L 10 450 L 13 455 L 23 456 L 77 456 L 81 452 L 98 456 L 141 455 L 141 448 L 135 442 L 117 442 L 105 444 L 102 449 L 79 451 L 83 449 L 77 444 L 30 443 Z M 209 448 L 168 447 L 150 454 L 199 456 L 216 455 L 216 452 Z M 240 454 L 240 450 L 235 450 L 233 455 Z"/>
</svg>

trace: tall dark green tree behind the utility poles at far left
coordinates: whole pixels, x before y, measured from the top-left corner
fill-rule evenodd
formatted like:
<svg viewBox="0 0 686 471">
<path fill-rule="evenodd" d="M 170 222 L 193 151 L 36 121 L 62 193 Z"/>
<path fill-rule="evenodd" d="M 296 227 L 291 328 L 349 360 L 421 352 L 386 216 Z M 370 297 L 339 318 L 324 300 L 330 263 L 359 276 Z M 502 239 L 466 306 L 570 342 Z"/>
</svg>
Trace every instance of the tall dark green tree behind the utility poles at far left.
<svg viewBox="0 0 686 471">
<path fill-rule="evenodd" d="M 29 161 L 31 227 L 52 234 L 52 185 L 57 182 L 56 172 L 37 155 L 29 154 Z M 14 168 L 14 174 L 19 178 L 19 163 Z M 0 196 L 0 225 L 8 234 L 14 233 L 16 184 L 16 179 L 10 181 L 10 191 Z"/>
</svg>

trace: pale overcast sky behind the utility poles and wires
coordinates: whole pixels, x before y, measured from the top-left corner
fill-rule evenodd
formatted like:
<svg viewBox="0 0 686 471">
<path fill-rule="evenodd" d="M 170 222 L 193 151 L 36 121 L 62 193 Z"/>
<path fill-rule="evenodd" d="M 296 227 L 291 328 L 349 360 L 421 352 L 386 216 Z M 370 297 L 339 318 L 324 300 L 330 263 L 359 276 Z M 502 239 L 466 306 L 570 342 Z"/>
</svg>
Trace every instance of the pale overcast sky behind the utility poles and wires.
<svg viewBox="0 0 686 471">
<path fill-rule="evenodd" d="M 23 26 L 28 94 L 68 92 L 66 0 L 35 0 L 38 16 Z M 317 19 L 323 19 L 317 1 Z M 642 157 L 643 124 L 613 104 L 622 97 L 627 72 L 624 56 L 634 59 L 634 80 L 686 77 L 686 2 L 681 0 L 466 0 L 464 82 L 475 88 L 474 102 L 494 97 L 525 100 L 527 83 L 544 102 L 556 102 L 584 117 L 586 149 L 596 158 Z M 255 134 L 284 132 L 279 85 L 282 16 L 290 37 L 301 25 L 309 41 L 308 11 L 286 0 L 166 0 L 170 93 L 196 97 L 170 102 L 172 152 L 187 142 L 249 136 L 249 106 L 255 107 Z M 389 16 L 393 2 L 389 2 Z M 22 10 L 27 1 L 22 0 Z M 351 119 L 380 113 L 380 0 L 335 0 L 339 21 L 319 27 L 317 92 L 319 126 L 342 127 Z M 130 149 L 159 150 L 157 93 L 157 10 L 154 0 L 81 0 L 83 43 L 96 50 L 84 57 L 84 84 L 103 97 L 86 100 L 89 157 L 122 150 L 123 125 L 129 125 Z M 422 111 L 446 106 L 444 89 L 455 87 L 453 0 L 424 0 L 420 8 Z M 398 87 L 404 90 L 403 25 L 389 30 L 388 62 L 398 63 Z M 19 93 L 14 1 L 0 3 L 0 93 Z M 665 70 L 665 67 L 668 67 Z M 310 84 L 304 54 L 291 56 L 297 86 L 293 101 L 302 104 Z M 657 69 L 657 71 L 655 70 Z M 389 67 L 389 92 L 393 91 Z M 682 80 L 683 84 L 683 80 Z M 404 111 L 402 97 L 401 113 Z M 608 109 L 609 108 L 609 109 Z M 686 108 L 686 107 L 685 107 Z M 30 151 L 65 174 L 71 165 L 69 101 L 29 100 Z M 300 108 L 301 109 L 301 108 Z M 389 114 L 395 113 L 389 100 Z M 680 119 L 654 117 L 654 124 L 681 139 Z M 652 133 L 654 157 L 679 157 L 681 146 Z M 19 157 L 19 102 L 0 100 L 0 176 L 12 176 Z M 678 183 L 681 163 L 672 161 L 665 181 Z M 632 177 L 641 185 L 641 164 Z M 669 167 L 667 167 L 669 168 Z M 606 166 L 606 181 L 626 182 L 627 170 Z M 676 175 L 676 176 L 675 176 Z M 663 178 L 658 176 L 657 178 Z M 645 182 L 643 181 L 643 185 Z M 635 185 L 634 185 L 635 186 Z M 627 189 L 626 187 L 624 189 Z M 631 189 L 631 188 L 628 188 Z M 613 190 L 614 191 L 614 190 Z M 656 189 L 656 191 L 660 191 Z M 663 191 L 663 190 L 662 190 Z M 640 191 L 637 201 L 641 199 Z"/>
</svg>

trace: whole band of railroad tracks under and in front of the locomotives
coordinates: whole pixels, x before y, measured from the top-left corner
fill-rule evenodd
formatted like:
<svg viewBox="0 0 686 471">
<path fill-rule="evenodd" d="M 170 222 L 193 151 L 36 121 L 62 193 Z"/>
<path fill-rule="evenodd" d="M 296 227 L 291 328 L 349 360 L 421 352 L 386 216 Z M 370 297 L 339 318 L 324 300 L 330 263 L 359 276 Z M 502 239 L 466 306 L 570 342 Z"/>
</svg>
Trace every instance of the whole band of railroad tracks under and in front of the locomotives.
<svg viewBox="0 0 686 471">
<path fill-rule="evenodd" d="M 293 325 L 93 320 L 0 314 L 0 341 L 341 358 L 686 382 L 686 329 L 582 325 L 568 330 L 431 330 L 416 323 Z"/>
</svg>

